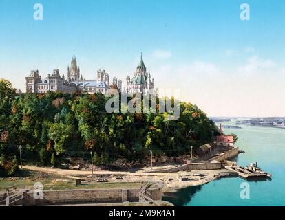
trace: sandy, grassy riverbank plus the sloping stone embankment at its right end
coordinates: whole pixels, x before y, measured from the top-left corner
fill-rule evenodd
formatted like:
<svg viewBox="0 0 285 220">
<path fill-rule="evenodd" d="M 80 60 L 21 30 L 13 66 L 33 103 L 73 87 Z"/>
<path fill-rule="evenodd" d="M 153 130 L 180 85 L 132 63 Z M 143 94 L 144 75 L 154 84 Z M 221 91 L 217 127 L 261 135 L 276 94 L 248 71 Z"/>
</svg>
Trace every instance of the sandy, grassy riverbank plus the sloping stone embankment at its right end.
<svg viewBox="0 0 285 220">
<path fill-rule="evenodd" d="M 218 151 L 217 151 L 218 152 Z M 209 161 L 191 164 L 165 164 L 153 168 L 145 167 L 125 171 L 70 170 L 38 166 L 23 166 L 24 177 L 6 178 L 0 181 L 0 191 L 6 188 L 32 188 L 40 182 L 44 190 L 78 188 L 112 188 L 114 185 L 131 188 L 140 183 L 160 184 L 162 192 L 176 192 L 189 186 L 200 186 L 229 173 L 222 162 L 238 155 L 238 148 L 209 155 Z M 30 173 L 29 173 L 30 172 Z M 75 184 L 76 181 L 84 184 Z M 102 186 L 101 186 L 102 185 Z"/>
</svg>

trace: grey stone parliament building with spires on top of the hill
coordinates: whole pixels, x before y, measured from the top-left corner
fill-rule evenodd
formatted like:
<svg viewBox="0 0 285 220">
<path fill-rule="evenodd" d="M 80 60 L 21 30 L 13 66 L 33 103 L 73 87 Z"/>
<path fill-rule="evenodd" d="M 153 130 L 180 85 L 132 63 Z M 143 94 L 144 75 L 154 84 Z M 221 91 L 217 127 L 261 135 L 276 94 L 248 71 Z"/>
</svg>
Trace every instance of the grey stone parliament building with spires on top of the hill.
<svg viewBox="0 0 285 220">
<path fill-rule="evenodd" d="M 132 78 L 127 76 L 127 85 L 122 87 L 122 80 L 113 78 L 110 84 L 109 74 L 105 70 L 99 69 L 96 80 L 85 80 L 77 66 L 75 54 L 72 56 L 70 67 L 67 67 L 67 78 L 64 74 L 61 76 L 59 69 L 54 69 L 52 74 L 48 74 L 47 78 L 42 79 L 39 75 L 39 70 L 32 70 L 30 75 L 25 78 L 26 92 L 34 94 L 45 94 L 48 91 L 59 91 L 62 93 L 75 93 L 76 91 L 94 94 L 102 93 L 112 88 L 127 93 L 145 93 L 147 91 L 154 91 L 154 79 L 147 72 L 145 63 L 140 57 L 140 63 L 136 68 L 136 72 Z"/>
</svg>

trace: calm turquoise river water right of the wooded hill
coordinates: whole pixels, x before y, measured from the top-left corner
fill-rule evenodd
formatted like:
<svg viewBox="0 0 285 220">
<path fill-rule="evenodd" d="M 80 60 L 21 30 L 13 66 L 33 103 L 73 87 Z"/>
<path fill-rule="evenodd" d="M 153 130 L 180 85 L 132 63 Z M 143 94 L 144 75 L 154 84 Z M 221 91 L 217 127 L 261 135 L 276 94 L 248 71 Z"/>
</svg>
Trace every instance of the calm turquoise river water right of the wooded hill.
<svg viewBox="0 0 285 220">
<path fill-rule="evenodd" d="M 262 170 L 273 175 L 272 180 L 249 182 L 250 199 L 240 199 L 240 184 L 245 181 L 240 177 L 185 188 L 164 199 L 176 206 L 285 206 L 285 129 L 242 126 L 223 130 L 237 134 L 237 146 L 246 151 L 235 158 L 238 164 L 258 162 Z"/>
</svg>

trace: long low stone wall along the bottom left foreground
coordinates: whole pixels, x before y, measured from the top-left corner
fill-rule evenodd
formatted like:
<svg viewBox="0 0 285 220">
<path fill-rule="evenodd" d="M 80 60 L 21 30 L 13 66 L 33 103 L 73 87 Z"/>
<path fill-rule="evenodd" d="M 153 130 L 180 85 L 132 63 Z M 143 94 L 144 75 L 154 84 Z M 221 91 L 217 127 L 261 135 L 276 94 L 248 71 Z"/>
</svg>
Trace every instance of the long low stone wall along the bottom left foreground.
<svg viewBox="0 0 285 220">
<path fill-rule="evenodd" d="M 46 190 L 43 199 L 34 199 L 32 193 L 25 194 L 24 206 L 45 206 L 68 203 L 120 203 L 136 202 L 140 189 L 92 189 L 92 190 Z M 160 188 L 147 190 L 151 199 L 160 201 L 162 191 Z"/>
</svg>

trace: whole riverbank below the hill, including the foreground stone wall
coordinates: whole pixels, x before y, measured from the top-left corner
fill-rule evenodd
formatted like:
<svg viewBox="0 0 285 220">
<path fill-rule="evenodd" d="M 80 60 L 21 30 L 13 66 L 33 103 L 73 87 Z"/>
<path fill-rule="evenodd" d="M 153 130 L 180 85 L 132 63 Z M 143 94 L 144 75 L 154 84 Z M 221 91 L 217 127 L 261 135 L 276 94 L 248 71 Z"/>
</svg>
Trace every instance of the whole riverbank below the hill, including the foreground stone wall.
<svg viewBox="0 0 285 220">
<path fill-rule="evenodd" d="M 22 173 L 25 173 L 25 176 L 1 179 L 0 191 L 2 190 L 2 193 L 0 195 L 3 199 L 6 197 L 5 195 L 8 195 L 3 192 L 4 189 L 8 190 L 9 198 L 14 199 L 19 195 L 21 201 L 23 198 L 25 198 L 24 201 L 29 201 L 26 203 L 28 206 L 30 204 L 33 206 L 52 203 L 68 204 L 73 201 L 75 203 L 112 203 L 120 200 L 122 202 L 129 201 L 129 198 L 133 198 L 130 201 L 141 201 L 139 198 L 143 193 L 140 191 L 145 187 L 156 185 L 160 199 L 156 197 L 154 200 L 160 201 L 162 195 L 169 192 L 177 192 L 189 186 L 201 186 L 219 177 L 233 175 L 223 167 L 227 159 L 235 157 L 238 153 L 239 148 L 237 147 L 226 151 L 223 148 L 217 148 L 217 151 L 209 153 L 207 161 L 202 161 L 200 158 L 198 162 L 187 162 L 184 165 L 165 164 L 153 168 L 146 167 L 125 171 L 67 170 L 23 166 Z M 204 157 L 206 158 L 206 155 Z M 45 194 L 43 201 L 34 199 L 32 194 L 28 195 L 30 192 L 32 193 L 35 184 L 43 187 Z M 134 195 L 134 192 L 136 192 L 136 199 L 134 196 L 129 197 L 129 195 Z"/>
</svg>

